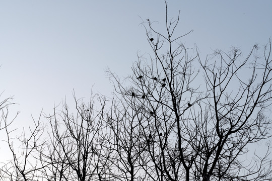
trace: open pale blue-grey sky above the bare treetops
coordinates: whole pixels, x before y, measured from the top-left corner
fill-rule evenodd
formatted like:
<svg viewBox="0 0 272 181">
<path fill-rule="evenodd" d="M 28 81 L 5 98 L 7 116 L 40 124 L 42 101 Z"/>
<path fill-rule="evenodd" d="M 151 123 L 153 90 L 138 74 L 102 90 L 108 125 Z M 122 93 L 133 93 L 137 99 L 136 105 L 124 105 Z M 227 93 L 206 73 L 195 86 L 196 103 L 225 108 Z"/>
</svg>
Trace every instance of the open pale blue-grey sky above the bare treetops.
<svg viewBox="0 0 272 181">
<path fill-rule="evenodd" d="M 193 30 L 182 41 L 196 44 L 200 57 L 230 47 L 246 56 L 272 36 L 271 8 L 270 0 L 169 0 L 168 17 L 180 11 L 176 33 Z M 164 1 L 0 1 L 0 99 L 14 97 L 16 126 L 28 127 L 42 109 L 52 113 L 54 105 L 73 99 L 73 90 L 78 98 L 89 98 L 91 91 L 110 98 L 105 70 L 125 77 L 137 52 L 147 58 L 152 53 L 141 26 L 146 19 L 163 32 Z"/>
</svg>

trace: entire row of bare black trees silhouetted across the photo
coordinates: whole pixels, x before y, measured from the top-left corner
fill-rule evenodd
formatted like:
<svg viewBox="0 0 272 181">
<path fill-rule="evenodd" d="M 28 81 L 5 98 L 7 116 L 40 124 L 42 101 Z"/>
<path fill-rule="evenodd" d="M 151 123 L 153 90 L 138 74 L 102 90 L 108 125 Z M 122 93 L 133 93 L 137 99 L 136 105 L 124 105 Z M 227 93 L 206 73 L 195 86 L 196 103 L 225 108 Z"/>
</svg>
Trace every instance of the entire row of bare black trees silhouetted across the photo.
<svg viewBox="0 0 272 181">
<path fill-rule="evenodd" d="M 176 36 L 179 15 L 169 19 L 165 6 L 165 31 L 142 23 L 150 60 L 138 55 L 124 80 L 108 71 L 111 102 L 95 95 L 85 104 L 74 94 L 74 109 L 63 102 L 45 117 L 47 132 L 39 117 L 17 139 L 9 99 L 0 103 L 13 155 L 0 180 L 272 180 L 270 40 L 263 54 L 254 45 L 246 57 L 232 48 L 201 59 L 181 41 L 192 31 Z"/>
</svg>

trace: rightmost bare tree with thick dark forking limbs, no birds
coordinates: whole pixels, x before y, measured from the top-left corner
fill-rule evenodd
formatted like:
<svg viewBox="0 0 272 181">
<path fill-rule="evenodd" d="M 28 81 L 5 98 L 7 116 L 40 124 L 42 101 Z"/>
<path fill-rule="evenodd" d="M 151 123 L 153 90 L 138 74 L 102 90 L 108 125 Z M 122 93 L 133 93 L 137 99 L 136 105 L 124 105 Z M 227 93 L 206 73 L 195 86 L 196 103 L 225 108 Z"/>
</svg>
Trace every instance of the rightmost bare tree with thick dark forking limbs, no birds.
<svg viewBox="0 0 272 181">
<path fill-rule="evenodd" d="M 271 136 L 266 115 L 272 99 L 271 42 L 263 56 L 256 49 L 253 46 L 245 59 L 236 48 L 230 54 L 217 50 L 214 57 L 200 62 L 209 97 L 203 101 L 201 119 L 194 121 L 198 137 L 194 147 L 202 150 L 194 161 L 203 180 L 271 180 L 269 143 L 263 156 L 254 153 L 249 163 L 245 156 L 249 144 Z"/>
</svg>

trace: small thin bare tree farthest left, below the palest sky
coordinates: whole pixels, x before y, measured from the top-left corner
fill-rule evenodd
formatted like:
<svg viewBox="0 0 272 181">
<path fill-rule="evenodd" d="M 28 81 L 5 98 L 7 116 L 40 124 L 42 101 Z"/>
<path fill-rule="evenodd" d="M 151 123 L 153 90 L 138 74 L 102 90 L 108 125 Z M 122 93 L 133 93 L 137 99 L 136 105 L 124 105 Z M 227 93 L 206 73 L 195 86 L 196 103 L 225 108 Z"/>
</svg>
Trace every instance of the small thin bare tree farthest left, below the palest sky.
<svg viewBox="0 0 272 181">
<path fill-rule="evenodd" d="M 9 125 L 14 122 L 15 118 L 8 122 L 9 111 L 3 113 L 5 130 L 7 133 L 7 143 L 12 153 L 11 160 L 1 168 L 3 180 L 35 180 L 40 177 L 40 170 L 43 168 L 36 159 L 39 148 L 44 144 L 41 139 L 43 135 L 43 124 L 39 116 L 38 121 L 34 121 L 34 128 L 29 126 L 29 133 L 23 129 L 22 136 L 14 137 L 12 133 L 17 129 L 9 130 Z M 28 136 L 29 135 L 29 136 Z M 15 142 L 14 142 L 14 141 Z M 14 146 L 15 145 L 15 146 Z"/>
</svg>

